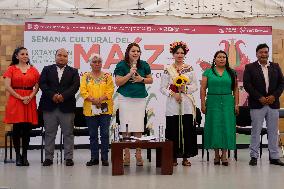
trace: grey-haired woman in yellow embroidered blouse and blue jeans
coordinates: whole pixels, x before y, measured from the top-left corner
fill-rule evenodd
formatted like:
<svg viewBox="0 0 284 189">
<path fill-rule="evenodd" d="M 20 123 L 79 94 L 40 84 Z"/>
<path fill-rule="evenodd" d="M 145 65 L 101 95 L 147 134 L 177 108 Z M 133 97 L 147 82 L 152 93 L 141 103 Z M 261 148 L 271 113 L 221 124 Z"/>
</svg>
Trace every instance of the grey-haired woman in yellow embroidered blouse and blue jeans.
<svg viewBox="0 0 284 189">
<path fill-rule="evenodd" d="M 113 112 L 114 84 L 112 76 L 101 71 L 102 58 L 95 54 L 90 60 L 91 72 L 82 76 L 80 93 L 84 99 L 83 112 L 90 134 L 91 160 L 87 166 L 99 164 L 98 128 L 100 128 L 101 160 L 108 166 L 109 126 Z"/>
</svg>

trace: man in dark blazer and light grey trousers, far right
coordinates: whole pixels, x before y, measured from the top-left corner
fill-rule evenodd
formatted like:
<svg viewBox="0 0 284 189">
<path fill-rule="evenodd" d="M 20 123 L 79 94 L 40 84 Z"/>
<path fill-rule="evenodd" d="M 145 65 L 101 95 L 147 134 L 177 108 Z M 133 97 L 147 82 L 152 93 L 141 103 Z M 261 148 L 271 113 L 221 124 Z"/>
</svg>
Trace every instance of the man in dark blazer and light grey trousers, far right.
<svg viewBox="0 0 284 189">
<path fill-rule="evenodd" d="M 266 120 L 270 164 L 284 166 L 278 152 L 279 97 L 284 87 L 282 71 L 277 63 L 269 62 L 269 47 L 259 44 L 257 61 L 247 64 L 244 71 L 244 88 L 248 92 L 248 103 L 252 120 L 249 165 L 256 166 L 259 155 L 259 136 Z"/>
</svg>

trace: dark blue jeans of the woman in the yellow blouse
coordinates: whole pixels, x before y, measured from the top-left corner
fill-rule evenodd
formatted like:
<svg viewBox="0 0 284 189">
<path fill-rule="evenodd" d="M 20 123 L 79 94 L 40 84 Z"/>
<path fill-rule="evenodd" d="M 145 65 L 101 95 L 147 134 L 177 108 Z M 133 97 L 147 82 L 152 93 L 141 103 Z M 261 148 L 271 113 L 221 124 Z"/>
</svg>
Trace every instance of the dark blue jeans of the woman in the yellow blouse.
<svg viewBox="0 0 284 189">
<path fill-rule="evenodd" d="M 86 116 L 86 123 L 90 134 L 91 158 L 99 159 L 98 129 L 100 127 L 101 160 L 108 160 L 109 151 L 109 125 L 111 115 L 101 114 Z"/>
</svg>

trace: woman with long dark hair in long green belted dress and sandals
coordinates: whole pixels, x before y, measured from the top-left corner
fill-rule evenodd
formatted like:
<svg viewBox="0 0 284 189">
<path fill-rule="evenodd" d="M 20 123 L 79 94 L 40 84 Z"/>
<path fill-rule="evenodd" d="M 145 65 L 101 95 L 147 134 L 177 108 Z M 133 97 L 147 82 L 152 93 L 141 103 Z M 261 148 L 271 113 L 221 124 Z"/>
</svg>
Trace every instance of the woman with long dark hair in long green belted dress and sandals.
<svg viewBox="0 0 284 189">
<path fill-rule="evenodd" d="M 227 150 L 236 148 L 239 91 L 237 75 L 229 66 L 226 52 L 217 51 L 211 68 L 203 73 L 200 97 L 205 114 L 204 146 L 215 150 L 215 165 L 222 161 L 222 165 L 228 166 Z"/>
</svg>

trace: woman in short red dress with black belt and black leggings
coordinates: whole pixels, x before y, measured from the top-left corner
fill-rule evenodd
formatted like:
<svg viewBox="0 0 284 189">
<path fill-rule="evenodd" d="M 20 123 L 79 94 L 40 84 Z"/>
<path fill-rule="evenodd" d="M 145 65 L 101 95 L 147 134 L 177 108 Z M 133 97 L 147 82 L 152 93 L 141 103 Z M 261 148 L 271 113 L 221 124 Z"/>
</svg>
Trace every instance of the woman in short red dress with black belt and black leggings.
<svg viewBox="0 0 284 189">
<path fill-rule="evenodd" d="M 13 143 L 16 166 L 29 166 L 27 149 L 30 142 L 31 125 L 38 123 L 36 93 L 39 73 L 30 65 L 28 51 L 24 47 L 15 49 L 12 62 L 3 74 L 5 89 L 9 92 L 4 122 L 13 124 Z M 22 155 L 20 139 L 22 138 Z"/>
</svg>

